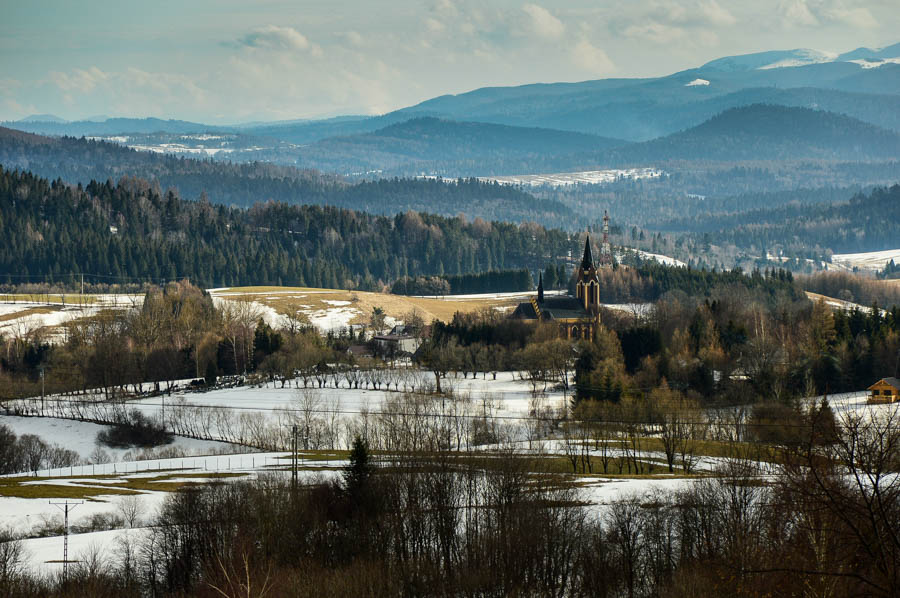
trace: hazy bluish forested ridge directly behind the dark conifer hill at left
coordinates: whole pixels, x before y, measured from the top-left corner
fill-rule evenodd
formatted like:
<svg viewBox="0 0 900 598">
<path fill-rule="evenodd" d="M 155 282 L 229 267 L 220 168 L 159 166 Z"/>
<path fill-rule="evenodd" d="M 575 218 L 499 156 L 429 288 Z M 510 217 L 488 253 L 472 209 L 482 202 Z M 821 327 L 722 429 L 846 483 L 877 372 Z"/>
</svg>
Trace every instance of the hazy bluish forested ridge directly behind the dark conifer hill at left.
<svg viewBox="0 0 900 598">
<path fill-rule="evenodd" d="M 445 216 L 464 213 L 471 218 L 539 221 L 561 227 L 575 221 L 572 212 L 558 201 L 538 200 L 519 189 L 475 180 L 392 179 L 348 184 L 338 177 L 287 166 L 178 158 L 113 143 L 42 137 L 3 128 L 0 166 L 82 184 L 136 176 L 154 182 L 161 193 L 174 188 L 187 199 L 199 199 L 205 193 L 214 204 L 238 207 L 274 200 L 383 215 L 407 210 Z"/>
</svg>

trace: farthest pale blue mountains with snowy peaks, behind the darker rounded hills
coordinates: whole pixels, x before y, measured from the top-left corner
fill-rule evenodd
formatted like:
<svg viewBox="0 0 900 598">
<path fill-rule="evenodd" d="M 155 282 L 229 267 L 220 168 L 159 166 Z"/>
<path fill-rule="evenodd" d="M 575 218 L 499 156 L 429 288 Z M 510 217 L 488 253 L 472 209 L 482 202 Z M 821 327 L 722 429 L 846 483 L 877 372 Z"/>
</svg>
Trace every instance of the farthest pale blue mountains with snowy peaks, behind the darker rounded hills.
<svg viewBox="0 0 900 598">
<path fill-rule="evenodd" d="M 886 102 L 884 96 L 893 98 Z M 843 54 L 808 49 L 758 52 L 719 58 L 656 78 L 485 87 L 432 98 L 377 117 L 223 127 L 155 118 L 65 122 L 52 115 L 33 115 L 2 124 L 48 135 L 218 131 L 306 144 L 431 116 L 646 141 L 700 124 L 722 110 L 757 102 L 821 108 L 900 130 L 897 96 L 900 44 Z M 42 117 L 45 122 L 39 122 Z"/>
</svg>

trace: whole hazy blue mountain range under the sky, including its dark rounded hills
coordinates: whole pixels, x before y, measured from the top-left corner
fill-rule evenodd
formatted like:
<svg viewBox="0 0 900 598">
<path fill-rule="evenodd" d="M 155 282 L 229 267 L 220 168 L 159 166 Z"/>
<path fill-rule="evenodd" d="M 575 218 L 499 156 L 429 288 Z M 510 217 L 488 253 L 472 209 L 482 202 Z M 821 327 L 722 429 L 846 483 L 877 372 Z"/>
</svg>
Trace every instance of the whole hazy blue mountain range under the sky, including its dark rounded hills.
<svg viewBox="0 0 900 598">
<path fill-rule="evenodd" d="M 657 78 L 487 87 L 376 117 L 222 127 L 33 115 L 7 126 L 363 178 L 698 161 L 897 161 L 900 44 L 844 54 L 760 52 Z M 852 174 L 833 182 L 869 181 Z"/>
</svg>

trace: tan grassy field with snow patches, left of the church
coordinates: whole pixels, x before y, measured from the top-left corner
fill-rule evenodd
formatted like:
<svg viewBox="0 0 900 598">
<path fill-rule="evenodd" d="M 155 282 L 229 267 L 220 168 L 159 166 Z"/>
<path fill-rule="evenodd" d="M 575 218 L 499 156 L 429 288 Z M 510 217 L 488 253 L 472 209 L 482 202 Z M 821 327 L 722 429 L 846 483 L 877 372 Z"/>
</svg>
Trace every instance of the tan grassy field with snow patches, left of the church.
<svg viewBox="0 0 900 598">
<path fill-rule="evenodd" d="M 426 322 L 441 320 L 448 322 L 456 312 L 470 313 L 485 308 L 509 310 L 525 300 L 527 294 L 517 297 L 491 297 L 474 299 L 457 299 L 445 297 L 431 299 L 423 297 L 406 297 L 387 293 L 370 293 L 366 291 L 342 291 L 337 289 L 314 289 L 302 287 L 234 287 L 222 289 L 214 293 L 222 299 L 249 299 L 273 308 L 281 314 L 292 309 L 301 309 L 305 313 L 318 310 L 334 309 L 327 301 L 349 301 L 345 307 L 354 308 L 359 313 L 351 319 L 351 324 L 368 321 L 372 309 L 380 307 L 385 314 L 393 318 L 403 319 L 413 309 L 421 312 Z M 302 306 L 299 307 L 299 306 Z"/>
</svg>

